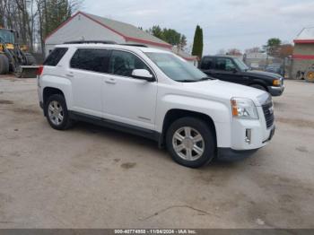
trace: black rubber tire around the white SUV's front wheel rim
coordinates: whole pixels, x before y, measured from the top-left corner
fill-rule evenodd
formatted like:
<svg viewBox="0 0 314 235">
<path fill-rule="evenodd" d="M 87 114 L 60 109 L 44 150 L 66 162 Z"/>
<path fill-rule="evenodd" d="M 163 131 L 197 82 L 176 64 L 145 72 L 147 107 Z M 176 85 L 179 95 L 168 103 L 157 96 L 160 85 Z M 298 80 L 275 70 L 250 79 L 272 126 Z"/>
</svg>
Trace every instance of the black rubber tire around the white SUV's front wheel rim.
<svg viewBox="0 0 314 235">
<path fill-rule="evenodd" d="M 193 132 L 196 131 L 196 132 L 198 132 L 198 135 L 201 135 L 203 138 L 203 142 L 197 143 L 197 144 L 201 144 L 201 146 L 198 146 L 198 147 L 203 149 L 203 153 L 199 154 L 199 157 L 196 158 L 195 160 L 193 160 L 193 159 L 186 160 L 183 157 L 181 157 L 179 154 L 184 155 L 185 154 L 184 149 L 180 153 L 177 153 L 174 149 L 175 148 L 174 144 L 178 144 L 178 140 L 173 140 L 173 138 L 175 138 L 174 135 L 176 134 L 176 132 L 178 134 L 178 132 L 182 128 L 184 128 L 185 126 L 192 128 L 192 132 L 191 132 L 192 136 L 193 136 Z M 183 131 L 183 132 L 185 132 L 185 131 Z M 166 135 L 167 149 L 170 152 L 172 159 L 174 161 L 178 162 L 180 165 L 183 165 L 183 166 L 188 167 L 188 168 L 202 167 L 205 164 L 208 164 L 210 161 L 212 161 L 214 159 L 214 156 L 215 156 L 216 146 L 215 146 L 213 133 L 214 132 L 212 131 L 210 126 L 208 126 L 205 123 L 205 121 L 203 121 L 202 119 L 199 119 L 196 117 L 179 118 L 178 120 L 173 122 L 170 125 L 169 129 L 167 130 L 167 135 Z M 197 135 L 197 133 L 195 133 L 195 135 Z M 191 142 L 191 144 L 192 143 L 193 143 L 193 141 Z M 182 141 L 181 144 L 184 144 L 184 141 Z M 193 150 L 191 152 L 191 155 L 193 158 L 193 154 L 195 155 L 195 153 L 197 153 L 197 152 L 194 152 L 195 143 L 192 145 L 193 145 Z M 192 147 L 190 147 L 190 148 L 192 148 Z M 186 152 L 187 152 L 187 150 L 188 149 L 186 149 Z"/>
</svg>

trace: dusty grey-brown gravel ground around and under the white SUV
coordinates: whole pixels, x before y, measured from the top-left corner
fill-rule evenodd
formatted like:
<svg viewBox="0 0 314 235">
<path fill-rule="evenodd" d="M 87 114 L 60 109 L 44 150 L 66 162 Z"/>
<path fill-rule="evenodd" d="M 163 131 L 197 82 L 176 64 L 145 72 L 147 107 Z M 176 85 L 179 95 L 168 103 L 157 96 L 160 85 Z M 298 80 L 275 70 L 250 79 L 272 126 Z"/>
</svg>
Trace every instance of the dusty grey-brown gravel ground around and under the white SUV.
<svg viewBox="0 0 314 235">
<path fill-rule="evenodd" d="M 314 83 L 274 100 L 271 144 L 191 170 L 141 137 L 53 130 L 36 80 L 2 76 L 0 228 L 313 228 Z"/>
</svg>

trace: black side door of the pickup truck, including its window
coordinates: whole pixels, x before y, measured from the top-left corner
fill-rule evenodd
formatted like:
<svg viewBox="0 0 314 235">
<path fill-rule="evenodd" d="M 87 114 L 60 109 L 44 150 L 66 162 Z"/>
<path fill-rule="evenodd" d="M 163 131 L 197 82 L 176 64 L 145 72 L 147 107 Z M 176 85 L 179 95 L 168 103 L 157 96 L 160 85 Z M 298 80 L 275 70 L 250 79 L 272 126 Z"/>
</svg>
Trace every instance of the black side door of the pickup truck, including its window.
<svg viewBox="0 0 314 235">
<path fill-rule="evenodd" d="M 231 83 L 243 83 L 243 77 L 231 58 L 217 57 L 214 65 L 214 77 Z"/>
</svg>

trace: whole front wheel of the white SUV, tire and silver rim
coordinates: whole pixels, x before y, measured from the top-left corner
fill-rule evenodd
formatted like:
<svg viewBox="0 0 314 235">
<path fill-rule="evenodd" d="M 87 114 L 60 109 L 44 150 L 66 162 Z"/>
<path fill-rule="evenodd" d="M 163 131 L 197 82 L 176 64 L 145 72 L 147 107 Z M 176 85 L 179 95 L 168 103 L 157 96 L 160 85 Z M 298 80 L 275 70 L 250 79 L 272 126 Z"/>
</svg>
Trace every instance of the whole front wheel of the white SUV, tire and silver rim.
<svg viewBox="0 0 314 235">
<path fill-rule="evenodd" d="M 189 168 L 199 168 L 214 159 L 213 131 L 199 118 L 183 117 L 173 122 L 166 144 L 172 159 Z"/>
</svg>

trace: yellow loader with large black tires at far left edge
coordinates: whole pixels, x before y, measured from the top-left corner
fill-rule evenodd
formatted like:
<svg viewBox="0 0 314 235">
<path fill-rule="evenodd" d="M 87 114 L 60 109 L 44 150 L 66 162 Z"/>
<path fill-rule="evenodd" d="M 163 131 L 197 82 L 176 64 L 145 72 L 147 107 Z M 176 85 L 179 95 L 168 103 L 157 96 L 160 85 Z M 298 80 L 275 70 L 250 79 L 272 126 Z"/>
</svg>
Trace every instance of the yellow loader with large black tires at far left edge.
<svg viewBox="0 0 314 235">
<path fill-rule="evenodd" d="M 13 73 L 17 77 L 36 76 L 36 59 L 27 52 L 26 46 L 17 42 L 19 35 L 14 30 L 0 27 L 0 74 Z"/>
</svg>

